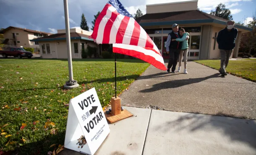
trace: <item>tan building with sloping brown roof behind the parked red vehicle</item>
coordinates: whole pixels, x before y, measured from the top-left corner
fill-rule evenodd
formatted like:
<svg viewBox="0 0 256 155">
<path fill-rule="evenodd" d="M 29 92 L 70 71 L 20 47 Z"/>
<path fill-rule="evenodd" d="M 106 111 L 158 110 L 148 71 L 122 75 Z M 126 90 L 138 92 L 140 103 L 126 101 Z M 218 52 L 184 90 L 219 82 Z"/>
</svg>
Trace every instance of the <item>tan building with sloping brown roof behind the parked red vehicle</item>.
<svg viewBox="0 0 256 155">
<path fill-rule="evenodd" d="M 5 44 L 5 46 L 30 47 L 34 48 L 35 52 L 39 52 L 39 43 L 31 42 L 29 40 L 51 35 L 47 32 L 18 28 L 14 26 L 9 26 L 8 28 L 3 29 L 0 31 L 0 34 L 3 34 L 4 36 L 3 44 Z"/>
</svg>

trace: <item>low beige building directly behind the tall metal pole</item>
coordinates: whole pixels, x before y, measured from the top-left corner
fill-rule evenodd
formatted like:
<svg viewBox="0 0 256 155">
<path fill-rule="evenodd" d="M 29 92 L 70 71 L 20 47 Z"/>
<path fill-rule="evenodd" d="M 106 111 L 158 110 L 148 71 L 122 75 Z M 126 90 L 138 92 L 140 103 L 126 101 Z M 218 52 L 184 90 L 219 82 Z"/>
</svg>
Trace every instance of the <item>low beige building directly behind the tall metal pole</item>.
<svg viewBox="0 0 256 155">
<path fill-rule="evenodd" d="M 97 47 L 97 52 L 99 53 L 99 47 L 97 44 L 94 43 L 93 39 L 89 39 L 91 34 L 91 32 L 79 28 L 70 29 L 72 58 L 81 59 L 82 51 L 83 49 L 87 49 L 88 45 L 91 47 Z M 39 43 L 42 58 L 68 58 L 65 29 L 57 30 L 57 34 L 32 39 L 30 41 Z"/>
</svg>

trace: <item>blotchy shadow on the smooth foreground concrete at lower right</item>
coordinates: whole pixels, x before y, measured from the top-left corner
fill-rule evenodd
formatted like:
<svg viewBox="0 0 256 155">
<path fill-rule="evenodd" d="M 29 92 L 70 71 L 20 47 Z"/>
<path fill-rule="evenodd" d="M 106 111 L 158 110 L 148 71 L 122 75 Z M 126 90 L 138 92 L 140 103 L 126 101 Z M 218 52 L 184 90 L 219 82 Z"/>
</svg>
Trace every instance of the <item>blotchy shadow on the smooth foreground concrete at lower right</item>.
<svg viewBox="0 0 256 155">
<path fill-rule="evenodd" d="M 167 121 L 165 124 L 154 127 L 155 130 L 161 132 L 172 133 L 186 130 L 186 132 L 216 131 L 225 135 L 230 141 L 239 141 L 251 145 L 256 149 L 256 121 L 250 119 L 231 118 L 233 115 L 223 114 L 219 112 L 214 115 L 193 114 L 188 113 L 180 116 L 176 120 Z M 226 117 L 225 117 L 226 116 Z"/>
</svg>

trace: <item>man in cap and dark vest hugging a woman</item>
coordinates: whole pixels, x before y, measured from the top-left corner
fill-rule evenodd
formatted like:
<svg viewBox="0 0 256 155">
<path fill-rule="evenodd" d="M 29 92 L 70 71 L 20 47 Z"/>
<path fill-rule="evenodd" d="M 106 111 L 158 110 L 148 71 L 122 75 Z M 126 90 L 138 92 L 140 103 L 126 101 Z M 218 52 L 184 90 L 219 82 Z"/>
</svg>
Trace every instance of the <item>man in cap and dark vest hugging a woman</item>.
<svg viewBox="0 0 256 155">
<path fill-rule="evenodd" d="M 168 34 L 167 42 L 166 42 L 166 52 L 167 54 L 170 54 L 170 59 L 167 66 L 167 72 L 170 72 L 170 69 L 171 69 L 172 70 L 171 72 L 175 73 L 177 60 L 178 60 L 180 49 L 182 46 L 182 42 L 172 41 L 172 39 L 177 39 L 177 38 L 180 38 L 179 25 L 173 24 L 172 32 Z"/>
</svg>

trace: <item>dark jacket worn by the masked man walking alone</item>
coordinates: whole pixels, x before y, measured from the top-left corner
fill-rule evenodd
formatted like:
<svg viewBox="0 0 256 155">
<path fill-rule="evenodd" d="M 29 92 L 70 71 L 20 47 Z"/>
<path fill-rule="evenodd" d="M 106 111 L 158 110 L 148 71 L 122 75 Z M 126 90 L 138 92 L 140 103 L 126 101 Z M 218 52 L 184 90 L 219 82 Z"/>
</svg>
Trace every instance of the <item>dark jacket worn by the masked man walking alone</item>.
<svg viewBox="0 0 256 155">
<path fill-rule="evenodd" d="M 217 36 L 217 43 L 219 44 L 219 49 L 231 50 L 235 48 L 235 39 L 238 35 L 238 29 L 232 28 L 228 31 L 224 28 L 219 31 Z"/>
</svg>

